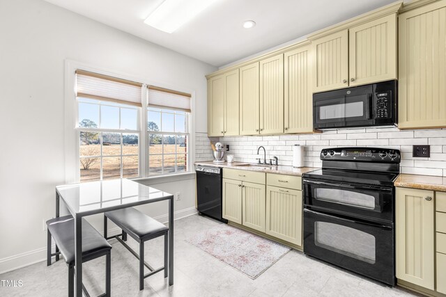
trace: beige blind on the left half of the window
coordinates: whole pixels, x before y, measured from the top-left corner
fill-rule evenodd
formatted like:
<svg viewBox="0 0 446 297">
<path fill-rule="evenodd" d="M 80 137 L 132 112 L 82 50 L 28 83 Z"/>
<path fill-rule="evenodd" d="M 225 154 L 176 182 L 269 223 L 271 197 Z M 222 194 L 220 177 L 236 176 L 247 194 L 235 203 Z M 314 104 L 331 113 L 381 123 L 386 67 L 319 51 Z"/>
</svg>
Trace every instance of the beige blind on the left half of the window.
<svg viewBox="0 0 446 297">
<path fill-rule="evenodd" d="M 76 70 L 76 96 L 142 106 L 142 83 Z"/>
</svg>

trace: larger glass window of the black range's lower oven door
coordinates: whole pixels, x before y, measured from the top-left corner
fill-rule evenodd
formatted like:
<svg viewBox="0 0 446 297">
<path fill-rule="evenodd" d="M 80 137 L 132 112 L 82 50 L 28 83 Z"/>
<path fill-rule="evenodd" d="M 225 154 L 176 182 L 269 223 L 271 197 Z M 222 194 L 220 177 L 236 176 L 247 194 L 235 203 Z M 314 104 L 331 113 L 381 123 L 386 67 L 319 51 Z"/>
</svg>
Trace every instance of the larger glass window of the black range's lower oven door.
<svg viewBox="0 0 446 297">
<path fill-rule="evenodd" d="M 315 222 L 314 243 L 316 246 L 348 257 L 375 264 L 375 236 L 343 225 Z"/>
</svg>

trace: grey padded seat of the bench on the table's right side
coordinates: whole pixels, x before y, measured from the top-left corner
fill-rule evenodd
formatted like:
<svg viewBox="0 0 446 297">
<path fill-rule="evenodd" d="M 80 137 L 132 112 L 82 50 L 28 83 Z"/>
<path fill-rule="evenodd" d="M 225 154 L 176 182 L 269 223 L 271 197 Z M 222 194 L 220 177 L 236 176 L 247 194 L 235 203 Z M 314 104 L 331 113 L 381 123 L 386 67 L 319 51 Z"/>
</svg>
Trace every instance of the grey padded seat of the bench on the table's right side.
<svg viewBox="0 0 446 297">
<path fill-rule="evenodd" d="M 143 239 L 169 230 L 162 223 L 133 207 L 107 211 L 104 215 L 134 239 Z"/>
</svg>

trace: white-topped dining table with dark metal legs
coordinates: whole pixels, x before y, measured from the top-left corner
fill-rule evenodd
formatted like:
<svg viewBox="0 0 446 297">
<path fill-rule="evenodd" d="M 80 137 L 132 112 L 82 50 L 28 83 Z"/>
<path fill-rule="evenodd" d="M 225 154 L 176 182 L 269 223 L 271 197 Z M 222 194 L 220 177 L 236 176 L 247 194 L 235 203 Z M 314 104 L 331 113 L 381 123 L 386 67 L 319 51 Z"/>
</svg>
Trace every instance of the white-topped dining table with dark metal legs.
<svg viewBox="0 0 446 297">
<path fill-rule="evenodd" d="M 61 200 L 75 220 L 76 296 L 82 296 L 82 217 L 164 200 L 169 201 L 169 285 L 174 284 L 174 195 L 123 178 L 56 186 L 56 217 Z"/>
</svg>

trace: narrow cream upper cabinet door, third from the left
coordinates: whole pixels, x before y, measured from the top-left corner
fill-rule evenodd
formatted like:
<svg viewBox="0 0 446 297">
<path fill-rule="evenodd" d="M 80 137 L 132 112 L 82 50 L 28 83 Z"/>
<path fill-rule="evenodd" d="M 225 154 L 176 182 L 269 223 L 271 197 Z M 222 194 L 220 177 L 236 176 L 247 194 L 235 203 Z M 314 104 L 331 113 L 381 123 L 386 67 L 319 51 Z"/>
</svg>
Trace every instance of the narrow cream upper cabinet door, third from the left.
<svg viewBox="0 0 446 297">
<path fill-rule="evenodd" d="M 259 62 L 240 68 L 240 135 L 259 134 Z"/>
</svg>

